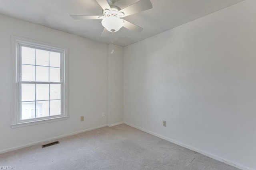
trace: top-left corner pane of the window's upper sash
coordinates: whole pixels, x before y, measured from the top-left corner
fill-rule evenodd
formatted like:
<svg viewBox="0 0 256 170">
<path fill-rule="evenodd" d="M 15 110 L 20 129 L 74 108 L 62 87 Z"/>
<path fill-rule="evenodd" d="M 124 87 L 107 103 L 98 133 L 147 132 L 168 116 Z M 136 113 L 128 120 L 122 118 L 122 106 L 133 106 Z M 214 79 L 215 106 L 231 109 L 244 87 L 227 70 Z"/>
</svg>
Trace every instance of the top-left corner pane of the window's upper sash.
<svg viewBox="0 0 256 170">
<path fill-rule="evenodd" d="M 35 64 L 35 49 L 28 47 L 21 47 L 21 63 Z"/>
</svg>

